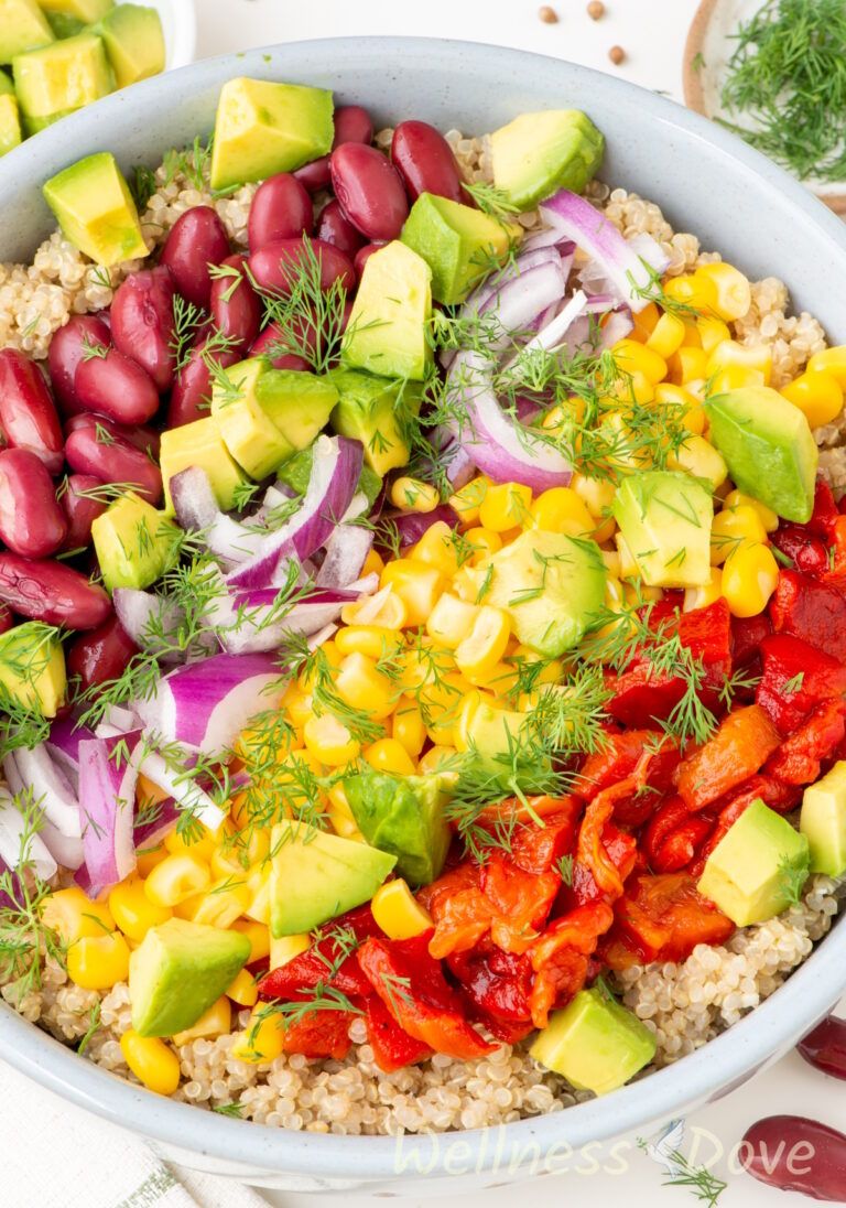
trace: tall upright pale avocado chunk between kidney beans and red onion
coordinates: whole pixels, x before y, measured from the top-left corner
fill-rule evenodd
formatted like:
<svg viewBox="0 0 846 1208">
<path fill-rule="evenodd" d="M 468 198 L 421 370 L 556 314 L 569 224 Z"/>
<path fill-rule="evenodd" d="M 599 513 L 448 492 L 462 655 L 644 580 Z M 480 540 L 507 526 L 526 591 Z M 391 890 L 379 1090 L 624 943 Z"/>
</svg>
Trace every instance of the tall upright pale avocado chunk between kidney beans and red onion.
<svg viewBox="0 0 846 1208">
<path fill-rule="evenodd" d="M 432 364 L 431 280 L 426 261 L 398 239 L 374 251 L 344 332 L 343 364 L 422 382 Z"/>
</svg>

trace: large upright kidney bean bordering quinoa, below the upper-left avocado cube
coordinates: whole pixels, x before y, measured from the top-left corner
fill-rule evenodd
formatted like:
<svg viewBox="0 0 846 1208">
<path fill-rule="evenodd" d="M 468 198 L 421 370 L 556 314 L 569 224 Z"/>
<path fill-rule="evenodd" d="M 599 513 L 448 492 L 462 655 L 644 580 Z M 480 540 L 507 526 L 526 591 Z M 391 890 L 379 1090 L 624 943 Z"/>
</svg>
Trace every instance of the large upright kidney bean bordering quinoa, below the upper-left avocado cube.
<svg viewBox="0 0 846 1208">
<path fill-rule="evenodd" d="M 164 265 L 142 268 L 117 288 L 111 304 L 115 347 L 150 374 L 159 394 L 174 384 L 174 279 Z"/>
</svg>

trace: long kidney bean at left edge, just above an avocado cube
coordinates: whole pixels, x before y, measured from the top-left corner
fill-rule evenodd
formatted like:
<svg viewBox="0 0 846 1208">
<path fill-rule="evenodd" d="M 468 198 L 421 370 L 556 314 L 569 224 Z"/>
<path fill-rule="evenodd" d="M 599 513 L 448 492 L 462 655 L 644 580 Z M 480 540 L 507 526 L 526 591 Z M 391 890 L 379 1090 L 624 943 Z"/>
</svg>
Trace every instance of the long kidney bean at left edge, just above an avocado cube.
<svg viewBox="0 0 846 1208">
<path fill-rule="evenodd" d="M 106 592 L 72 567 L 6 552 L 0 553 L 0 600 L 21 616 L 69 629 L 95 629 L 111 612 Z"/>
</svg>

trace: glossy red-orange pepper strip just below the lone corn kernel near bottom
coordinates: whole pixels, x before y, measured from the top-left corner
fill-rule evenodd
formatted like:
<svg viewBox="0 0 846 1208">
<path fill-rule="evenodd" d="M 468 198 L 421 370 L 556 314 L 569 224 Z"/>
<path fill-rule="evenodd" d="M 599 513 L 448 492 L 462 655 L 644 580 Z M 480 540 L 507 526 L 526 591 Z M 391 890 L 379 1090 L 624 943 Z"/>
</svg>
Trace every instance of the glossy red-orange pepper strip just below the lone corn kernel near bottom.
<svg viewBox="0 0 846 1208">
<path fill-rule="evenodd" d="M 431 931 L 412 940 L 364 940 L 358 949 L 362 972 L 387 1011 L 415 1040 L 436 1052 L 469 1061 L 494 1052 L 471 1027 L 461 998 L 447 982 L 440 963 L 428 954 Z"/>
</svg>

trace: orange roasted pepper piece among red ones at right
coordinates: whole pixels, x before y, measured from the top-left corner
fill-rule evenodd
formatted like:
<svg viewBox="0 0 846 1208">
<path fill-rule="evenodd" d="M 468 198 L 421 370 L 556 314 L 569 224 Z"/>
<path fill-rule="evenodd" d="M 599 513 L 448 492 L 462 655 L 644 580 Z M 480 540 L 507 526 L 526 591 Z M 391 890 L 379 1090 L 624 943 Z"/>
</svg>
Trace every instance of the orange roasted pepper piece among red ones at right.
<svg viewBox="0 0 846 1208">
<path fill-rule="evenodd" d="M 760 705 L 729 714 L 713 737 L 678 766 L 678 791 L 688 809 L 701 809 L 742 784 L 764 765 L 778 741 Z"/>
</svg>

